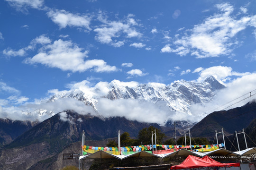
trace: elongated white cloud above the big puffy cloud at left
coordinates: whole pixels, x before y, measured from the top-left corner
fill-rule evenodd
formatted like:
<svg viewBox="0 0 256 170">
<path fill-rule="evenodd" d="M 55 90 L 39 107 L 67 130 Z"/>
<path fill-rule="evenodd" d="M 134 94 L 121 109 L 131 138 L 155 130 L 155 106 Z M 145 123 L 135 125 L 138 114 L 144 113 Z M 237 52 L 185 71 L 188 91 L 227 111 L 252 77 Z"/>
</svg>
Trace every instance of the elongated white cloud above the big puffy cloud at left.
<svg viewBox="0 0 256 170">
<path fill-rule="evenodd" d="M 70 12 L 63 10 L 51 10 L 47 12 L 48 17 L 52 19 L 52 21 L 57 24 L 60 29 L 65 28 L 66 26 L 76 26 L 76 27 L 84 27 L 88 30 L 90 28 L 91 18 L 86 15 L 80 14 L 72 14 Z"/>
</svg>

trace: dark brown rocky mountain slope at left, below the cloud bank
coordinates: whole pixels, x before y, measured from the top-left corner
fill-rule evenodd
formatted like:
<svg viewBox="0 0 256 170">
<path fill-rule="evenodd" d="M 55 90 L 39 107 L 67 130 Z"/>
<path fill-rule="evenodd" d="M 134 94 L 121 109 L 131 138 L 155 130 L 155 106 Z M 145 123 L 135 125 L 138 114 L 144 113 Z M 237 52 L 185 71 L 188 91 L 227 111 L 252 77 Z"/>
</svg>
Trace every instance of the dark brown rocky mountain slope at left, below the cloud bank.
<svg viewBox="0 0 256 170">
<path fill-rule="evenodd" d="M 85 140 L 103 140 L 128 132 L 137 136 L 144 127 L 161 128 L 158 124 L 130 121 L 115 117 L 102 120 L 91 115 L 81 115 L 72 111 L 58 113 L 55 116 L 32 127 L 18 136 L 12 143 L 0 149 L 0 167 L 16 170 L 28 169 L 38 161 L 49 161 L 66 146 L 82 140 L 82 130 Z M 44 161 L 43 161 L 44 162 Z"/>
</svg>

